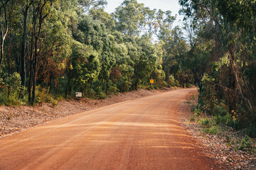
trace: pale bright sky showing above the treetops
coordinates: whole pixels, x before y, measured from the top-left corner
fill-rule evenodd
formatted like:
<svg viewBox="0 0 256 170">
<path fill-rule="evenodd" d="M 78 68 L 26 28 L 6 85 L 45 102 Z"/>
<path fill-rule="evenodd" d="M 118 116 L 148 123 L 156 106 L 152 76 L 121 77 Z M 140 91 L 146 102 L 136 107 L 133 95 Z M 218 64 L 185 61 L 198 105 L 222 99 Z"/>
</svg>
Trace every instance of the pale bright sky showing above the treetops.
<svg viewBox="0 0 256 170">
<path fill-rule="evenodd" d="M 120 6 L 122 4 L 122 1 L 124 0 L 107 0 L 107 6 L 105 8 L 105 11 L 108 13 L 114 12 L 114 9 L 117 8 L 117 6 Z M 151 9 L 161 9 L 162 11 L 171 11 L 172 16 L 175 16 L 177 14 L 176 23 L 174 23 L 174 26 L 181 26 L 182 16 L 178 15 L 178 11 L 181 8 L 178 4 L 178 0 L 137 0 L 138 3 L 144 4 L 144 6 L 147 6 Z M 181 21 L 179 21 L 181 20 Z"/>
</svg>

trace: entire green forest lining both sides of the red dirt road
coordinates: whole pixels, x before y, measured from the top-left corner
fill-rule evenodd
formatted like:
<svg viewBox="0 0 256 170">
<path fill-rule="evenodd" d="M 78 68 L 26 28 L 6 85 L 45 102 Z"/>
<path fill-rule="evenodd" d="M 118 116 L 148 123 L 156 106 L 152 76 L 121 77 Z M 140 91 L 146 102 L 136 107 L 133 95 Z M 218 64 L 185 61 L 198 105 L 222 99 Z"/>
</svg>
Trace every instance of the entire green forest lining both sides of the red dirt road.
<svg viewBox="0 0 256 170">
<path fill-rule="evenodd" d="M 198 86 L 196 111 L 256 137 L 256 2 L 179 4 L 183 26 L 137 0 L 1 0 L 0 105 Z"/>
</svg>

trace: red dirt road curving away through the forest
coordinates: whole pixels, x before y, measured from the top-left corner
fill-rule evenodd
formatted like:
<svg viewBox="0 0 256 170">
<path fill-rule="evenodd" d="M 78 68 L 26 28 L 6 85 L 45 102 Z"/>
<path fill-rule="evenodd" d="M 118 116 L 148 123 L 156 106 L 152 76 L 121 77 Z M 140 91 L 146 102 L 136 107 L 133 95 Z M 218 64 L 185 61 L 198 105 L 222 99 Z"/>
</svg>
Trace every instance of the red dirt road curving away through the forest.
<svg viewBox="0 0 256 170">
<path fill-rule="evenodd" d="M 168 91 L 0 139 L 0 169 L 218 169 L 179 124 L 196 89 Z"/>
</svg>

